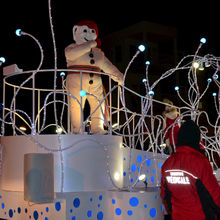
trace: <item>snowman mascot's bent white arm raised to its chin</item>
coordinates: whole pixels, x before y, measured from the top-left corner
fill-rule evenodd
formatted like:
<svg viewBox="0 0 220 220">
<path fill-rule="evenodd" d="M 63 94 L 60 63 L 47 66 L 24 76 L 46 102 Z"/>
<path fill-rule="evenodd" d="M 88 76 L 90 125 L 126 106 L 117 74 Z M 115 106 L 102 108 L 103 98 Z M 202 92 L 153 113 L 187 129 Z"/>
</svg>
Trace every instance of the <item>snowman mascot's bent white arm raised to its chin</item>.
<svg viewBox="0 0 220 220">
<path fill-rule="evenodd" d="M 74 61 L 82 55 L 88 53 L 93 47 L 96 47 L 96 41 L 87 41 L 83 44 L 70 44 L 65 48 L 65 56 L 68 60 Z"/>
</svg>

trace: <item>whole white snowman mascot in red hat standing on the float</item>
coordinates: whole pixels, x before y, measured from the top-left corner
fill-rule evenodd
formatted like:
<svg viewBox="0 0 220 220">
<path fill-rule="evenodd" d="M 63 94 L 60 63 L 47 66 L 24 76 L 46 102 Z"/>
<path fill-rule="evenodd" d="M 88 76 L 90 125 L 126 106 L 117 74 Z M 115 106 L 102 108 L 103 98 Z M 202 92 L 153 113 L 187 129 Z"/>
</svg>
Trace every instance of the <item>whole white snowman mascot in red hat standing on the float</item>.
<svg viewBox="0 0 220 220">
<path fill-rule="evenodd" d="M 85 20 L 79 22 L 73 27 L 74 43 L 65 48 L 65 57 L 67 67 L 73 71 L 69 72 L 66 78 L 67 92 L 72 94 L 80 102 L 80 91 L 84 90 L 93 95 L 87 95 L 82 98 L 82 108 L 84 108 L 86 99 L 90 105 L 91 115 L 91 133 L 104 134 L 103 105 L 103 86 L 101 75 L 90 71 L 103 71 L 111 79 L 122 84 L 123 74 L 105 57 L 103 51 L 99 48 L 100 39 L 98 38 L 98 27 L 95 22 Z M 80 79 L 82 72 L 82 81 Z M 69 98 L 69 109 L 71 113 L 71 124 L 75 134 L 81 133 L 81 108 L 74 98 Z"/>
</svg>

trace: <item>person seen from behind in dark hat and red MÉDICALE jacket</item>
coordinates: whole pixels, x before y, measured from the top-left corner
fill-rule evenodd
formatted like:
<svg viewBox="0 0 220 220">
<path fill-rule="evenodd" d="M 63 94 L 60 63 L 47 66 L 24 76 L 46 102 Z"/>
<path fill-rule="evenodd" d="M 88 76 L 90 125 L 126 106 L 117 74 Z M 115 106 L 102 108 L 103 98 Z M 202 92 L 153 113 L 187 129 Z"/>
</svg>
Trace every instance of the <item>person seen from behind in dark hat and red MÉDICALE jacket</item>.
<svg viewBox="0 0 220 220">
<path fill-rule="evenodd" d="M 204 150 L 200 130 L 185 121 L 176 152 L 161 168 L 161 196 L 173 220 L 215 220 L 220 213 L 220 186 Z"/>
</svg>

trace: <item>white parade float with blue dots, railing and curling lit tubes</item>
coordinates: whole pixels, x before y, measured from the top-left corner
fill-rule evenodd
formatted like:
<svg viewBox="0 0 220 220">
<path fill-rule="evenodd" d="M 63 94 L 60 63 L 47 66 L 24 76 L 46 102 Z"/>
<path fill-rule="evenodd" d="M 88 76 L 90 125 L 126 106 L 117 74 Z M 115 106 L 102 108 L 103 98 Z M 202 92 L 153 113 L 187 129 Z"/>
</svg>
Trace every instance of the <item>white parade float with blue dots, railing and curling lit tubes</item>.
<svg viewBox="0 0 220 220">
<path fill-rule="evenodd" d="M 164 153 L 167 130 L 164 128 L 164 117 L 154 113 L 154 106 L 160 105 L 164 109 L 169 104 L 154 99 L 154 91 L 163 83 L 163 79 L 178 71 L 187 78 L 187 96 L 182 96 L 181 89 L 176 85 L 174 89 L 182 104 L 175 106 L 179 114 L 169 129 L 173 131 L 184 117 L 191 117 L 199 126 L 201 117 L 205 118 L 213 133 L 210 135 L 208 128 L 201 125 L 202 141 L 219 178 L 216 158 L 220 154 L 220 99 L 218 92 L 209 97 L 207 91 L 211 83 L 219 91 L 220 58 L 210 54 L 199 55 L 200 48 L 206 43 L 205 38 L 200 40 L 195 54 L 183 57 L 176 67 L 162 73 L 153 83 L 149 82 L 150 62 L 147 61 L 146 77 L 142 82 L 146 94 L 140 95 L 126 86 L 125 79 L 130 65 L 144 51 L 147 42 L 137 48 L 120 84 L 112 83 L 108 72 L 60 69 L 57 67 L 50 1 L 48 10 L 54 67 L 41 68 L 44 52 L 40 42 L 21 29 L 16 30 L 16 35 L 31 38 L 39 47 L 41 59 L 38 67 L 23 71 L 16 64 L 6 66 L 3 64 L 5 60 L 0 60 L 4 74 L 0 119 L 0 218 L 163 219 L 160 168 L 168 157 Z M 210 68 L 212 73 L 203 91 L 200 91 L 197 80 L 199 67 Z M 103 99 L 83 88 L 79 98 L 68 93 L 65 75 L 74 71 L 78 72 L 81 84 L 85 72 L 109 77 Z M 43 80 L 44 74 L 53 78 L 53 88 L 42 88 L 39 81 Z M 57 77 L 61 77 L 61 85 L 58 85 Z M 136 112 L 127 106 L 126 99 L 131 94 L 141 103 Z M 90 132 L 91 117 L 97 109 L 83 117 L 82 101 L 89 96 L 98 101 L 97 109 L 103 103 L 109 103 L 109 117 L 101 111 L 107 134 Z M 207 112 L 199 109 L 199 103 L 204 98 L 213 98 L 217 117 L 215 124 L 209 121 Z M 74 99 L 80 107 L 80 133 L 77 134 L 71 124 L 68 99 Z M 52 118 L 52 122 L 49 118 Z M 21 121 L 26 130 L 19 126 Z M 48 132 L 50 128 L 56 130 L 56 134 Z"/>
</svg>

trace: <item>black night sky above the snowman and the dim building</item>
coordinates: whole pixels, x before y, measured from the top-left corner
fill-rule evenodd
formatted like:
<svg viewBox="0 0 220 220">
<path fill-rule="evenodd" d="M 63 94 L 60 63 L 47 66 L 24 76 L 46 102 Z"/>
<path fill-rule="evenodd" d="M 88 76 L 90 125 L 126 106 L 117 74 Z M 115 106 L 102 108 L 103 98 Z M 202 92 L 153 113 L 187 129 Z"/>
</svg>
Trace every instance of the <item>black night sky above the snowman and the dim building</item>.
<svg viewBox="0 0 220 220">
<path fill-rule="evenodd" d="M 100 37 L 142 20 L 171 25 L 178 28 L 179 45 L 188 48 L 189 53 L 194 53 L 200 37 L 205 36 L 207 52 L 220 55 L 220 19 L 216 4 L 212 1 L 205 4 L 201 1 L 152 2 L 52 0 L 58 64 L 63 65 L 63 49 L 72 41 L 72 26 L 84 19 L 98 24 Z M 21 28 L 41 42 L 45 52 L 44 65 L 48 68 L 53 56 L 48 1 L 7 0 L 1 1 L 0 7 L 0 56 L 7 58 L 7 64 L 17 63 L 23 69 L 36 68 L 39 51 L 27 37 L 15 36 L 15 30 Z"/>
</svg>

